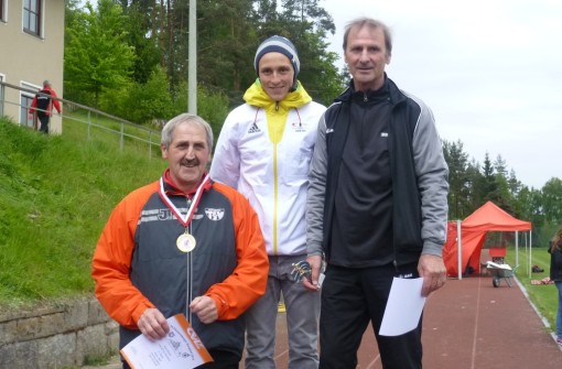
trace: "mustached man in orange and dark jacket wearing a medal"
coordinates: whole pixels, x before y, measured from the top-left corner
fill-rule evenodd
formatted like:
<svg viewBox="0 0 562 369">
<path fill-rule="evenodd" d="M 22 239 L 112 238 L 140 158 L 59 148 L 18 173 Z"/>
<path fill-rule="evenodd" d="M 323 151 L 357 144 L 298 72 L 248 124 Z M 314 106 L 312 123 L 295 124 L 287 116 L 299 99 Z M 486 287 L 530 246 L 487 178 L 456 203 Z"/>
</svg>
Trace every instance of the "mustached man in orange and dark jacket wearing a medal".
<svg viewBox="0 0 562 369">
<path fill-rule="evenodd" d="M 161 149 L 162 177 L 126 196 L 99 238 L 96 297 L 120 325 L 120 348 L 141 334 L 164 337 L 166 318 L 184 313 L 215 360 L 202 368 L 238 369 L 241 314 L 264 293 L 269 269 L 258 217 L 242 195 L 209 180 L 205 120 L 173 118 Z"/>
</svg>

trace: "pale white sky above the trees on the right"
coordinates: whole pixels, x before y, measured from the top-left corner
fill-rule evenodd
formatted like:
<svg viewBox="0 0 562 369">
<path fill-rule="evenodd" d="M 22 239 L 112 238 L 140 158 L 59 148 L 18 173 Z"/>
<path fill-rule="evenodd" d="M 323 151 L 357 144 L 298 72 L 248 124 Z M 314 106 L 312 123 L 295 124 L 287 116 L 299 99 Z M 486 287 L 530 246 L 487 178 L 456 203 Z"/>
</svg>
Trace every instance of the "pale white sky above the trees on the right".
<svg viewBox="0 0 562 369">
<path fill-rule="evenodd" d="M 392 31 L 386 70 L 425 101 L 440 135 L 480 165 L 498 155 L 536 189 L 562 180 L 562 1 L 321 0 L 331 51 L 358 17 Z"/>
</svg>

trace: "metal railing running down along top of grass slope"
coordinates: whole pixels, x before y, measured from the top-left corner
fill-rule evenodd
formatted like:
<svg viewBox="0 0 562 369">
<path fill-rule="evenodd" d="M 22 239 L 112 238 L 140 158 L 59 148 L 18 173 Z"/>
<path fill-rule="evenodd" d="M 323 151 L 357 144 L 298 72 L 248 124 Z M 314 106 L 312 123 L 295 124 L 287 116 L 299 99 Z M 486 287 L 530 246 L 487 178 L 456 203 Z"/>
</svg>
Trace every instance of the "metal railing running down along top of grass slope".
<svg viewBox="0 0 562 369">
<path fill-rule="evenodd" d="M 14 90 L 18 90 L 18 97 L 19 101 L 10 101 L 6 98 L 8 95 L 6 93 L 7 88 L 11 88 Z M 41 94 L 37 90 L 24 88 L 14 86 L 4 82 L 0 82 L 0 115 L 6 115 L 6 105 L 12 105 L 18 106 L 19 110 L 22 111 L 22 109 L 26 109 L 26 113 L 29 113 L 29 106 L 22 106 L 21 105 L 21 93 L 25 93 L 28 96 L 35 96 L 36 94 Z M 84 124 L 86 128 L 86 140 L 90 141 L 96 130 L 98 132 L 108 132 L 110 134 L 115 134 L 119 140 L 119 149 L 122 152 L 126 146 L 126 141 L 131 140 L 136 143 L 145 144 L 148 146 L 149 151 L 149 158 L 152 158 L 153 153 L 152 150 L 154 148 L 158 148 L 158 151 L 160 151 L 160 138 L 161 132 L 144 126 L 132 123 L 128 120 L 111 116 L 107 112 L 104 112 L 98 109 L 90 108 L 88 106 L 77 104 L 71 100 L 62 99 L 58 97 L 50 96 L 52 99 L 58 100 L 63 105 L 63 111 L 62 111 L 62 133 L 64 134 L 65 127 L 68 127 L 69 122 L 77 122 L 79 124 Z M 34 110 L 41 110 L 34 108 Z M 43 110 L 44 111 L 44 110 Z M 65 111 L 71 111 L 72 113 L 65 113 Z M 9 116 L 10 117 L 10 116 Z M 17 117 L 10 117 L 17 121 Z M 34 118 L 36 120 L 36 117 Z M 29 126 L 26 126 L 29 127 Z M 33 129 L 37 129 L 36 124 L 34 123 Z"/>
</svg>

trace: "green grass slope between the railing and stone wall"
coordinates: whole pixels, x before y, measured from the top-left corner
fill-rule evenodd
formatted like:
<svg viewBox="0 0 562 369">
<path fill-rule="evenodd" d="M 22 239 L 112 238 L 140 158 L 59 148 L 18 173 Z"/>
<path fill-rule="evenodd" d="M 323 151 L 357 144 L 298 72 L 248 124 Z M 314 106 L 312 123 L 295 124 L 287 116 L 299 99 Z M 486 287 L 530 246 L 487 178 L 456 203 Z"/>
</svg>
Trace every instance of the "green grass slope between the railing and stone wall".
<svg viewBox="0 0 562 369">
<path fill-rule="evenodd" d="M 166 166 L 145 144 L 45 135 L 0 119 L 0 306 L 91 293 L 91 256 L 110 211 Z M 117 142 L 117 143 L 116 143 Z"/>
</svg>

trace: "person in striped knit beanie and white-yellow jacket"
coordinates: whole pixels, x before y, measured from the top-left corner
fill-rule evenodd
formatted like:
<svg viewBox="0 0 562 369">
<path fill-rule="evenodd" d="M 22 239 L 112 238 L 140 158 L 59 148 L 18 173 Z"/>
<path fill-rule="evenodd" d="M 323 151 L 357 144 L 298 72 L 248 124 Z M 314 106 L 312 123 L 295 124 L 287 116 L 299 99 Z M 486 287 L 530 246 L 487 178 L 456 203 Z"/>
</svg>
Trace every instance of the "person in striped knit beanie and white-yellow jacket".
<svg viewBox="0 0 562 369">
<path fill-rule="evenodd" d="M 287 311 L 289 368 L 316 369 L 320 294 L 291 273 L 306 259 L 304 208 L 316 127 L 325 107 L 296 79 L 299 55 L 285 37 L 263 41 L 258 79 L 234 109 L 217 141 L 210 177 L 238 188 L 258 213 L 269 256 L 266 295 L 246 313 L 246 369 L 275 368 L 280 294 Z"/>
</svg>

